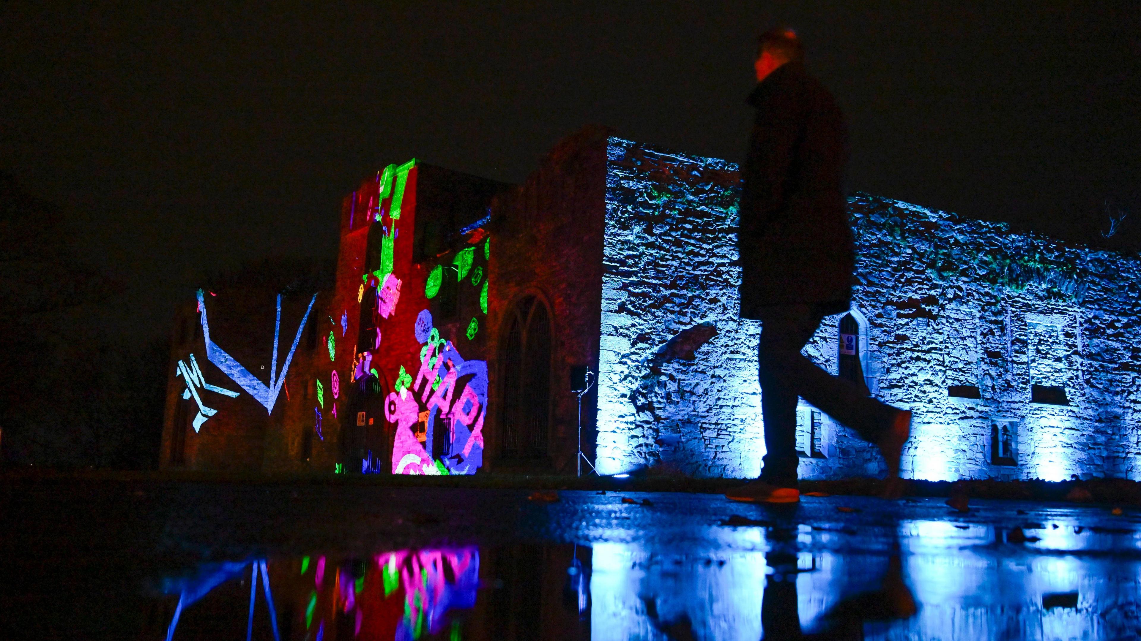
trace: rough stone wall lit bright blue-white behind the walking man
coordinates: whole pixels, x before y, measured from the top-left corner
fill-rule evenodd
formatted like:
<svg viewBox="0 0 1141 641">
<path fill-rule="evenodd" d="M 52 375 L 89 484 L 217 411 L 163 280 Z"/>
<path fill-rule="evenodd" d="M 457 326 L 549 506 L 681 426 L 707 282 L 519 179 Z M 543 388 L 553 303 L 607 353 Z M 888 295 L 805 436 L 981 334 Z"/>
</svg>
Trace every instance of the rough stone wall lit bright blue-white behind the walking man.
<svg viewBox="0 0 1141 641">
<path fill-rule="evenodd" d="M 736 182 L 731 163 L 609 140 L 601 473 L 760 471 L 760 326 L 737 317 Z M 1141 261 L 863 194 L 850 210 L 865 379 L 915 413 L 905 476 L 1141 478 Z M 841 316 L 804 350 L 833 373 Z M 718 333 L 694 360 L 663 354 L 702 323 Z M 812 412 L 802 401 L 802 478 L 883 473 L 827 416 L 810 452 Z"/>
</svg>

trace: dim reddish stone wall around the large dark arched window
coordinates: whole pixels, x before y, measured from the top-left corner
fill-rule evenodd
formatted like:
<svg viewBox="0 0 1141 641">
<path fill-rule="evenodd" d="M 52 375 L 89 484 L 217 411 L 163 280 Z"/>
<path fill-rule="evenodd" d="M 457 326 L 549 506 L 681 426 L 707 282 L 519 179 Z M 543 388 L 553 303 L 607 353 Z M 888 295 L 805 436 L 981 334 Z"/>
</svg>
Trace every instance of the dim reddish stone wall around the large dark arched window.
<svg viewBox="0 0 1141 641">
<path fill-rule="evenodd" d="M 577 396 L 570 370 L 598 363 L 599 292 L 604 227 L 607 131 L 588 127 L 561 140 L 523 185 L 501 194 L 492 208 L 492 260 L 488 270 L 488 370 L 500 407 L 505 389 L 508 331 L 516 306 L 536 297 L 551 318 L 549 457 L 529 469 L 499 459 L 502 415 L 487 423 L 489 469 L 575 473 Z M 594 441 L 593 397 L 583 397 L 583 449 Z M 535 399 L 535 401 L 542 401 Z"/>
</svg>

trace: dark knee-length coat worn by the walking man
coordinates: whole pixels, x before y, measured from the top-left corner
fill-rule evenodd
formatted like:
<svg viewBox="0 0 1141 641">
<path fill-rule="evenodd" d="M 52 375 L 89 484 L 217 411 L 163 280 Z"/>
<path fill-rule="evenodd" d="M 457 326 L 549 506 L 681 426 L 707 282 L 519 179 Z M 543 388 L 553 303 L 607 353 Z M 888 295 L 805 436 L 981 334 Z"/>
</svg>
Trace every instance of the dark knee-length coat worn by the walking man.
<svg viewBox="0 0 1141 641">
<path fill-rule="evenodd" d="M 742 168 L 741 316 L 815 303 L 848 309 L 852 234 L 843 196 L 848 135 L 835 98 L 799 63 L 748 96 L 756 120 Z"/>
</svg>

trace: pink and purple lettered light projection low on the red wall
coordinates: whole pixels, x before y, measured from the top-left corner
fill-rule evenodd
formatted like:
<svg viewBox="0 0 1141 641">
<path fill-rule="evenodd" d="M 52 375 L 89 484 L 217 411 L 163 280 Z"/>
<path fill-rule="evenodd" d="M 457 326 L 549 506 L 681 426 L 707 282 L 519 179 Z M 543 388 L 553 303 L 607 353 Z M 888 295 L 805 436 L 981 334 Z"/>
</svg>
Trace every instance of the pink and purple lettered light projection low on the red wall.
<svg viewBox="0 0 1141 641">
<path fill-rule="evenodd" d="M 451 341 L 439 339 L 427 309 L 416 317 L 415 328 L 416 339 L 426 339 L 415 380 L 407 388 L 397 386 L 399 391 L 385 401 L 385 417 L 396 423 L 393 473 L 475 473 L 483 465 L 487 363 L 464 360 Z M 407 376 L 400 370 L 402 379 Z M 418 435 L 436 430 L 448 430 L 447 451 L 434 461 Z"/>
</svg>

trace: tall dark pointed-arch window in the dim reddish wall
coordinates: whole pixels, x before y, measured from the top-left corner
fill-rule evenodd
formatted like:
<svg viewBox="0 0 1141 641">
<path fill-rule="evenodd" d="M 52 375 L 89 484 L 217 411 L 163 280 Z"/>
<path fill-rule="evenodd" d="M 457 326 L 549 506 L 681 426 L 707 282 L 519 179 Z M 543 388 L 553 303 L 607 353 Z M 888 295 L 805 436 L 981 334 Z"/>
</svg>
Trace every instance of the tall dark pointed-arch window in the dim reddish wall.
<svg viewBox="0 0 1141 641">
<path fill-rule="evenodd" d="M 503 459 L 543 459 L 551 422 L 551 325 L 536 298 L 519 301 L 508 317 L 503 350 Z"/>
</svg>

